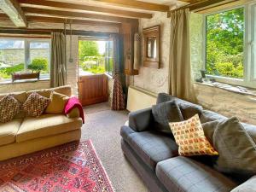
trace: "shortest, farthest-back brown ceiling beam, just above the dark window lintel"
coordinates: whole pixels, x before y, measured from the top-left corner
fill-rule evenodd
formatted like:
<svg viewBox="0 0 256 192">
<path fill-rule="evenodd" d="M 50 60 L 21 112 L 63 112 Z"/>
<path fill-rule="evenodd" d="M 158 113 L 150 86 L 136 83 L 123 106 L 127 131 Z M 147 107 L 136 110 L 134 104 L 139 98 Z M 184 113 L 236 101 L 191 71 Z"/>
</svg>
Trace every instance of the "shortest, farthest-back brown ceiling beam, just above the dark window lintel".
<svg viewBox="0 0 256 192">
<path fill-rule="evenodd" d="M 46 23 L 70 23 L 79 25 L 90 25 L 90 26 L 113 26 L 119 27 L 120 23 L 96 21 L 96 20 L 70 20 L 60 17 L 44 17 L 44 16 L 33 16 L 27 15 L 26 19 L 28 22 L 46 22 Z"/>
</svg>

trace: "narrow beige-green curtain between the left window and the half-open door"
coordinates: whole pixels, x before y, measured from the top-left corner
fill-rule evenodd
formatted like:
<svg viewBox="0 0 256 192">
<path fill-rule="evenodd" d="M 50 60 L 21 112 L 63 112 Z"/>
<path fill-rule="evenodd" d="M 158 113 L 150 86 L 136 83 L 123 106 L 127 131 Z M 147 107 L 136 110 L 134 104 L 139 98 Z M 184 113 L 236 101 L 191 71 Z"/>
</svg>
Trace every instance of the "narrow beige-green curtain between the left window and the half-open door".
<svg viewBox="0 0 256 192">
<path fill-rule="evenodd" d="M 50 86 L 67 84 L 66 38 L 63 32 L 51 33 Z"/>
</svg>

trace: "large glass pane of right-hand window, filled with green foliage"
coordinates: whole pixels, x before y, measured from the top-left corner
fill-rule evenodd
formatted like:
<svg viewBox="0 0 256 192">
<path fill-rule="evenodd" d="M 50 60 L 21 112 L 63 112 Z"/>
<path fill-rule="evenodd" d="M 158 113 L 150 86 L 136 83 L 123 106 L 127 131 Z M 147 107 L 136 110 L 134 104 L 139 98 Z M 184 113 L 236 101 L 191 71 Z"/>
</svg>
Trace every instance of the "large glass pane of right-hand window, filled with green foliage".
<svg viewBox="0 0 256 192">
<path fill-rule="evenodd" d="M 207 16 L 207 74 L 243 78 L 244 9 Z"/>
</svg>

